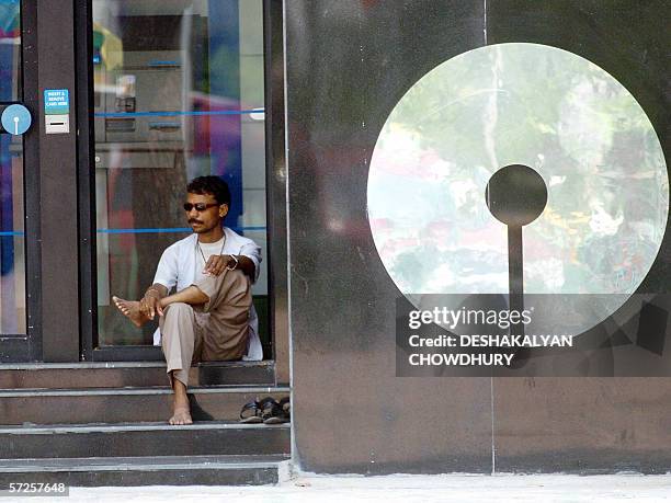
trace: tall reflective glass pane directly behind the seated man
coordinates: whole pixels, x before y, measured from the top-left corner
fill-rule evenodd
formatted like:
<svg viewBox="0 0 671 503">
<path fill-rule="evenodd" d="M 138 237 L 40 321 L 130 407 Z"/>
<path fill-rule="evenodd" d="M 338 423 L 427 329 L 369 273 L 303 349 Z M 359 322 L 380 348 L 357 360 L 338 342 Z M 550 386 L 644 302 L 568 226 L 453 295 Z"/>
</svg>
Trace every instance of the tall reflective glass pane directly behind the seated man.
<svg viewBox="0 0 671 503">
<path fill-rule="evenodd" d="M 94 0 L 92 57 L 99 342 L 151 344 L 110 299 L 140 296 L 189 232 L 189 180 L 223 176 L 226 225 L 265 253 L 262 3 Z M 263 322 L 264 271 L 253 293 Z"/>
</svg>

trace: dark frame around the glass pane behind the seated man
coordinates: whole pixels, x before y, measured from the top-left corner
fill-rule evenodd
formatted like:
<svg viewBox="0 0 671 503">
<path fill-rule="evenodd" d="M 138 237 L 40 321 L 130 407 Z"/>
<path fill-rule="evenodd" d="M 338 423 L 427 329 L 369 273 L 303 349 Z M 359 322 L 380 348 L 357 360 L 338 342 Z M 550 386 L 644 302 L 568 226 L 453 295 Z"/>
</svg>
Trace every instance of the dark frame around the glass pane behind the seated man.
<svg viewBox="0 0 671 503">
<path fill-rule="evenodd" d="M 284 110 L 284 37 L 282 0 L 262 0 L 265 71 L 265 167 L 269 321 L 278 382 L 288 384 L 286 164 Z M 95 250 L 95 137 L 93 130 L 93 26 L 91 0 L 76 0 L 75 58 L 77 68 L 77 175 L 79 204 L 81 361 L 162 361 L 158 346 L 98 347 L 98 285 Z"/>
</svg>

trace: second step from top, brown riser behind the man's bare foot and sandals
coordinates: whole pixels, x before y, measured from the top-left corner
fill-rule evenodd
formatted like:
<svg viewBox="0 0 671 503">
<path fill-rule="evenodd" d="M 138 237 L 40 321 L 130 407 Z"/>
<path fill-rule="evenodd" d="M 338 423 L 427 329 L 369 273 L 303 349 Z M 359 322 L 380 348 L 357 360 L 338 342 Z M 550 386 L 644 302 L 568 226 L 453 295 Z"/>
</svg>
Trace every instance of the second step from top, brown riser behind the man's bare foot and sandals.
<svg viewBox="0 0 671 503">
<path fill-rule="evenodd" d="M 287 387 L 194 387 L 194 421 L 238 421 L 246 403 L 280 399 Z M 164 422 L 172 415 L 172 390 L 163 388 L 15 389 L 0 391 L 0 425 Z"/>
</svg>

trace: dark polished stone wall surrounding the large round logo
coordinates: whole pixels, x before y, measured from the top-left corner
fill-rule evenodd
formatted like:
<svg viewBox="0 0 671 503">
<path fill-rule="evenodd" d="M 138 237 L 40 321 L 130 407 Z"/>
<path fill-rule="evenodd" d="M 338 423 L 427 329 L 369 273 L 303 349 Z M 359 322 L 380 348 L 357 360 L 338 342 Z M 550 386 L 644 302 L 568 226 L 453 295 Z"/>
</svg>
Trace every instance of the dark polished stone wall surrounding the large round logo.
<svg viewBox="0 0 671 503">
<path fill-rule="evenodd" d="M 366 219 L 387 115 L 440 62 L 536 42 L 637 96 L 669 159 L 663 0 L 286 0 L 295 456 L 317 472 L 671 469 L 671 381 L 397 378 L 395 299 Z M 411 204 L 411 202 L 399 202 Z M 664 258 L 662 258 L 664 259 Z M 647 291 L 663 287 L 658 261 Z"/>
</svg>

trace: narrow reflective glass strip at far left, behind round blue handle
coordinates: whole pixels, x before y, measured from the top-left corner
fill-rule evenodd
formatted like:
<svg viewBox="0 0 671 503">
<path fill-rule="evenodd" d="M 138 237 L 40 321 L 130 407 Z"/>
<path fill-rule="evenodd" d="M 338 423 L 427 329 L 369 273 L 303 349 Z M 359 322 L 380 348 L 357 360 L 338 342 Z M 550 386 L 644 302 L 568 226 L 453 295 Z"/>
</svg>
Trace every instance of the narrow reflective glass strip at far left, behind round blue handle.
<svg viewBox="0 0 671 503">
<path fill-rule="evenodd" d="M 21 26 L 19 0 L 0 2 L 0 102 L 20 101 Z M 0 334 L 24 335 L 25 250 L 23 227 L 23 140 L 0 135 Z"/>
</svg>

